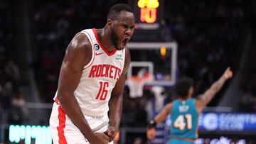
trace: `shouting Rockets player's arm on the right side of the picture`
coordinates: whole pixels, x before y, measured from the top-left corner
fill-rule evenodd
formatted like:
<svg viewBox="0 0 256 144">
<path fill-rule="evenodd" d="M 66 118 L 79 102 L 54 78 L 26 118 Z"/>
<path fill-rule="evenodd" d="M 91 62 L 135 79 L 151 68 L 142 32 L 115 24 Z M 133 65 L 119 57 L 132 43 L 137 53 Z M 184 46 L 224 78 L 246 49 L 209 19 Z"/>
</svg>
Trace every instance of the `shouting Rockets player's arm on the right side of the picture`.
<svg viewBox="0 0 256 144">
<path fill-rule="evenodd" d="M 119 77 L 117 83 L 112 90 L 110 98 L 110 127 L 107 129 L 106 134 L 110 136 L 110 141 L 114 139 L 114 136 L 117 134 L 119 129 L 119 123 L 122 116 L 122 106 L 123 106 L 123 91 L 125 84 L 125 74 L 127 73 L 129 64 L 131 62 L 131 56 L 129 49 L 125 48 L 125 61 L 124 61 L 124 70 Z"/>
</svg>

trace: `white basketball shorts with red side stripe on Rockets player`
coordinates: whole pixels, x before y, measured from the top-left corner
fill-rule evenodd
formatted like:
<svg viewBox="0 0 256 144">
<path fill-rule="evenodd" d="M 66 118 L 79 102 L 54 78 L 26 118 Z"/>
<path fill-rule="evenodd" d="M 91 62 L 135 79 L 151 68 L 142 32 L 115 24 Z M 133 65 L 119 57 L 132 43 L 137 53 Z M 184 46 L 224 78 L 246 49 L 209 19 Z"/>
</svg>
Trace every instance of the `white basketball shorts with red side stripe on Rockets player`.
<svg viewBox="0 0 256 144">
<path fill-rule="evenodd" d="M 95 133 L 103 133 L 107 131 L 109 118 L 105 116 L 87 116 L 87 123 Z M 53 110 L 50 115 L 50 133 L 54 144 L 89 144 L 88 140 L 80 132 L 80 130 L 71 122 L 70 118 L 65 114 L 60 104 L 53 103 Z M 110 142 L 109 144 L 112 144 Z"/>
</svg>

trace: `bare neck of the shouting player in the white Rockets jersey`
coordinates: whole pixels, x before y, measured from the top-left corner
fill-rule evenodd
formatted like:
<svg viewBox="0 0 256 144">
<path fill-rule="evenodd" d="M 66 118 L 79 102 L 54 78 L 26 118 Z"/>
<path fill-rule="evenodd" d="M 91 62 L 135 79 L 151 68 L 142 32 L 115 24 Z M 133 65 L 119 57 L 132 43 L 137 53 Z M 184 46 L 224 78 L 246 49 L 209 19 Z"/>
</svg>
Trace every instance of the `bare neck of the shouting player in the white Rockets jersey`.
<svg viewBox="0 0 256 144">
<path fill-rule="evenodd" d="M 100 39 L 100 43 L 105 47 L 105 49 L 108 52 L 112 52 L 113 50 L 115 50 L 114 45 L 112 44 L 112 40 L 111 40 L 111 33 L 110 31 L 107 30 L 106 27 L 99 29 L 97 31 L 97 35 Z"/>
</svg>

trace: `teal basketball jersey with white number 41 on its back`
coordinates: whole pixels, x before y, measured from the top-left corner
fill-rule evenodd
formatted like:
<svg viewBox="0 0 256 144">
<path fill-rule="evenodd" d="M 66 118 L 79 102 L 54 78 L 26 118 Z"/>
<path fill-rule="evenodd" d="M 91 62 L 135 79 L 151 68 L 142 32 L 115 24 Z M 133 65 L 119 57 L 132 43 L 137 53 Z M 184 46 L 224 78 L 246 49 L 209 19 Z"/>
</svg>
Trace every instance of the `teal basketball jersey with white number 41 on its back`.
<svg viewBox="0 0 256 144">
<path fill-rule="evenodd" d="M 198 111 L 195 99 L 175 100 L 171 109 L 171 137 L 197 138 Z"/>
</svg>

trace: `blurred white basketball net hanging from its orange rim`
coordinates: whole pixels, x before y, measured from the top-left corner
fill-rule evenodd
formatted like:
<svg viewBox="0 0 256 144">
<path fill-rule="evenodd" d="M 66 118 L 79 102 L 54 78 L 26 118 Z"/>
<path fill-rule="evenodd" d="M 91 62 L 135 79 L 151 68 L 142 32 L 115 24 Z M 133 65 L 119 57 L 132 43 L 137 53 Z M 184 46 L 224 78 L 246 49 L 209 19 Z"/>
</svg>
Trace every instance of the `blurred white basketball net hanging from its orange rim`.
<svg viewBox="0 0 256 144">
<path fill-rule="evenodd" d="M 128 77 L 127 85 L 129 87 L 129 96 L 131 98 L 142 97 L 144 84 L 146 82 L 152 82 L 153 80 L 154 77 L 149 73 Z"/>
</svg>

